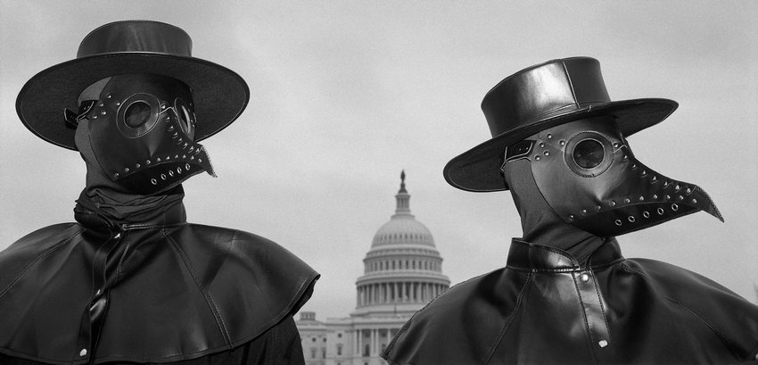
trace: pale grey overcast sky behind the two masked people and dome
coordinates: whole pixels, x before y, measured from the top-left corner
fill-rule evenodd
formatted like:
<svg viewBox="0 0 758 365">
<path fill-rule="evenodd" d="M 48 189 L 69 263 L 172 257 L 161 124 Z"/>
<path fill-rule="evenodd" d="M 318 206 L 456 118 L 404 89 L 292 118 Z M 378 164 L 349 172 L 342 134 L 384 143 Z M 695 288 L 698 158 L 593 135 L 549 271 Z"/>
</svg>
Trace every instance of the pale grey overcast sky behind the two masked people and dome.
<svg viewBox="0 0 758 365">
<path fill-rule="evenodd" d="M 90 30 L 146 19 L 185 29 L 194 56 L 251 87 L 242 117 L 203 142 L 218 178 L 185 182 L 188 220 L 266 236 L 309 262 L 322 278 L 304 309 L 317 319 L 354 309 L 402 169 L 452 283 L 505 265 L 521 235 L 510 195 L 449 187 L 442 167 L 490 137 L 480 103 L 498 81 L 575 55 L 600 61 L 614 100 L 680 103 L 631 148 L 703 187 L 726 219 L 701 212 L 620 236 L 624 255 L 696 270 L 755 302 L 758 2 L 518 3 L 0 0 L 0 249 L 72 221 L 84 187 L 78 153 L 23 127 L 19 90 L 74 58 Z"/>
</svg>

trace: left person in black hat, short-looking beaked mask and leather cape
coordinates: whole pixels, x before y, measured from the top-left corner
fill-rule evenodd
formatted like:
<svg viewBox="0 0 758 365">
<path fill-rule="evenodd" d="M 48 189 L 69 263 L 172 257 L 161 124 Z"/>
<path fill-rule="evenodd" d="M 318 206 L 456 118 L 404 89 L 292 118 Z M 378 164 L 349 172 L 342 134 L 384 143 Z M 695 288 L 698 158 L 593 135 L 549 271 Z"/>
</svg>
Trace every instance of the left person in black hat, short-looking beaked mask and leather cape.
<svg viewBox="0 0 758 365">
<path fill-rule="evenodd" d="M 266 238 L 185 220 L 181 183 L 213 174 L 197 142 L 249 100 L 190 50 L 169 24 L 114 22 L 21 89 L 23 123 L 78 150 L 87 187 L 76 223 L 0 253 L 0 363 L 303 362 L 292 315 L 317 273 Z"/>
</svg>

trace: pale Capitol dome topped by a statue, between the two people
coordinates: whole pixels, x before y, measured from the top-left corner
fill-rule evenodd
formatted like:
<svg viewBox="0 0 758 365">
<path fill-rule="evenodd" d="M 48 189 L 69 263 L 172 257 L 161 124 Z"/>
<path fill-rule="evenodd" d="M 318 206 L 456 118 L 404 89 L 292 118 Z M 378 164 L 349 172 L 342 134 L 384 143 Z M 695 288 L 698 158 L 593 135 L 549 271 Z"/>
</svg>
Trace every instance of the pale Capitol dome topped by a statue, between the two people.
<svg viewBox="0 0 758 365">
<path fill-rule="evenodd" d="M 395 199 L 395 213 L 376 231 L 363 259 L 353 316 L 412 314 L 449 288 L 432 232 L 410 213 L 405 171 L 400 173 Z"/>
</svg>

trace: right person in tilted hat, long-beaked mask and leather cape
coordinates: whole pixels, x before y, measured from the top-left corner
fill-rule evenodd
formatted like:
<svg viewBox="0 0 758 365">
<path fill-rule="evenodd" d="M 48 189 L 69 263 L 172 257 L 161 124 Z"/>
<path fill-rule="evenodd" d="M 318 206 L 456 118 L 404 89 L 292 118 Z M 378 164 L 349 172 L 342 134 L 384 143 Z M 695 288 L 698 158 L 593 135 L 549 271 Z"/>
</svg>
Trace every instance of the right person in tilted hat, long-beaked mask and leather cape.
<svg viewBox="0 0 758 365">
<path fill-rule="evenodd" d="M 493 138 L 451 160 L 450 185 L 510 190 L 522 220 L 507 266 L 418 311 L 392 364 L 699 364 L 753 360 L 758 307 L 708 278 L 624 259 L 614 236 L 721 213 L 696 185 L 639 162 L 626 140 L 667 99 L 611 101 L 597 60 L 545 62 L 501 81 L 482 110 Z M 671 244 L 671 243 L 667 243 Z M 684 247 L 683 247 L 684 249 Z"/>
</svg>

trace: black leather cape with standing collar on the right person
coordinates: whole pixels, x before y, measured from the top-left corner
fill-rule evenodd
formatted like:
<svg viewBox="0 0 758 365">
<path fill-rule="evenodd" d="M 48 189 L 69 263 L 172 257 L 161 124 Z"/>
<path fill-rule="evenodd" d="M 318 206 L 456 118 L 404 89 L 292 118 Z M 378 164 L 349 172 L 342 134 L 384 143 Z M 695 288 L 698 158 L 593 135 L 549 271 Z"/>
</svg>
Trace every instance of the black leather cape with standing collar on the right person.
<svg viewBox="0 0 758 365">
<path fill-rule="evenodd" d="M 514 240 L 506 268 L 441 294 L 383 356 L 391 364 L 721 364 L 756 353 L 758 307 L 694 272 L 625 260 L 611 239 L 583 266 Z"/>
</svg>

